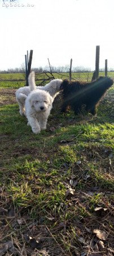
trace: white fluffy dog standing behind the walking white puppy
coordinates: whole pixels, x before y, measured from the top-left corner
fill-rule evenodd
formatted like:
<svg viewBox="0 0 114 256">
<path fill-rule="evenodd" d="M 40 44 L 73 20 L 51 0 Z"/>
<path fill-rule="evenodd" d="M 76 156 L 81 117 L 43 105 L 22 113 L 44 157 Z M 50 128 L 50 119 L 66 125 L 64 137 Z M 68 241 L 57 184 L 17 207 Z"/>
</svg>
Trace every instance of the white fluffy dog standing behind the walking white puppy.
<svg viewBox="0 0 114 256">
<path fill-rule="evenodd" d="M 40 89 L 49 92 L 54 99 L 56 95 L 60 92 L 60 85 L 62 84 L 62 79 L 54 79 L 49 84 L 45 86 L 36 86 L 35 73 L 32 71 L 28 77 L 29 86 L 24 86 L 16 90 L 16 101 L 19 104 L 20 114 L 25 114 L 25 99 L 31 90 Z"/>
</svg>

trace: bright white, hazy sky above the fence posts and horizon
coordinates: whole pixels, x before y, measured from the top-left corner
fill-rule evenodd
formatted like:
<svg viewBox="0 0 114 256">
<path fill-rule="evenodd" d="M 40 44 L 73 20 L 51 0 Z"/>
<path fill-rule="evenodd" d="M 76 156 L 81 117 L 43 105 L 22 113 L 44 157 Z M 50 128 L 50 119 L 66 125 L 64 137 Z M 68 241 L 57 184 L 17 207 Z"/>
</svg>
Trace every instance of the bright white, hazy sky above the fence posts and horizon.
<svg viewBox="0 0 114 256">
<path fill-rule="evenodd" d="M 32 68 L 69 65 L 114 68 L 114 0 L 0 0 L 0 70 L 20 68 L 33 49 Z"/>
</svg>

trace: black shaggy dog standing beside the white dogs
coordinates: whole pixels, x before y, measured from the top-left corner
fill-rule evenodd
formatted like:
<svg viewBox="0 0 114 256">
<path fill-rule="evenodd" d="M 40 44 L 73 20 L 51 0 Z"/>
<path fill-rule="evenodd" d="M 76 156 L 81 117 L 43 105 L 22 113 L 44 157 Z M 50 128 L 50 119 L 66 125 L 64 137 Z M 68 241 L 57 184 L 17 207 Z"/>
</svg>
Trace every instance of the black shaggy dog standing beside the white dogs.
<svg viewBox="0 0 114 256">
<path fill-rule="evenodd" d="M 60 85 L 63 90 L 62 113 L 66 112 L 67 106 L 71 106 L 74 113 L 78 114 L 85 105 L 86 111 L 95 115 L 99 101 L 112 84 L 113 80 L 109 77 L 99 77 L 96 81 L 88 83 L 64 80 Z"/>
</svg>

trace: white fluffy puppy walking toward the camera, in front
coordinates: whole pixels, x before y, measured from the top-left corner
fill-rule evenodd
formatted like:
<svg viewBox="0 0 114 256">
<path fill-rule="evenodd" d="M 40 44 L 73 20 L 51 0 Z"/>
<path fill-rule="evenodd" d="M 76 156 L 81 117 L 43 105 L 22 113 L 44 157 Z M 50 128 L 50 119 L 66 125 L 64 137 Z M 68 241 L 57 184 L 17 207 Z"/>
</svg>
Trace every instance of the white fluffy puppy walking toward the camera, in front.
<svg viewBox="0 0 114 256">
<path fill-rule="evenodd" d="M 40 133 L 46 129 L 47 118 L 52 109 L 53 98 L 44 90 L 30 92 L 25 100 L 25 115 L 28 125 L 32 127 L 33 133 Z"/>
</svg>

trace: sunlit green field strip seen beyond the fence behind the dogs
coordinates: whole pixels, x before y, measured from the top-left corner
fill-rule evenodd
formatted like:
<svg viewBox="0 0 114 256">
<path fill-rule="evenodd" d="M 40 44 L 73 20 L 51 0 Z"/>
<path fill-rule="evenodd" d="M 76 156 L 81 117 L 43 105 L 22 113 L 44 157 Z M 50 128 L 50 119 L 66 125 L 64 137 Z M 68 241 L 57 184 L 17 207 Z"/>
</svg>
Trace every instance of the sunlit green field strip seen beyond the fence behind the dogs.
<svg viewBox="0 0 114 256">
<path fill-rule="evenodd" d="M 48 84 L 53 79 L 72 79 L 73 81 L 86 81 L 90 82 L 93 79 L 94 72 L 72 72 L 72 77 L 68 72 L 50 72 L 43 71 L 36 73 L 36 85 Z M 105 72 L 99 72 L 99 76 L 105 76 Z M 114 72 L 109 72 L 108 76 L 114 78 Z M 0 87 L 1 88 L 20 88 L 26 85 L 26 77 L 24 73 L 13 74 L 0 74 Z"/>
</svg>

